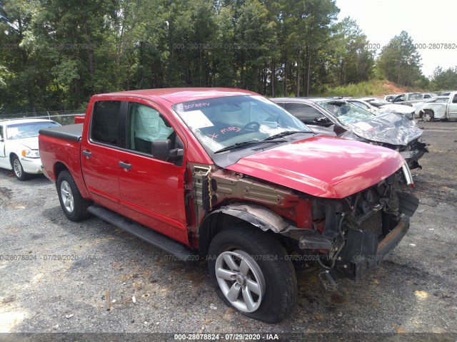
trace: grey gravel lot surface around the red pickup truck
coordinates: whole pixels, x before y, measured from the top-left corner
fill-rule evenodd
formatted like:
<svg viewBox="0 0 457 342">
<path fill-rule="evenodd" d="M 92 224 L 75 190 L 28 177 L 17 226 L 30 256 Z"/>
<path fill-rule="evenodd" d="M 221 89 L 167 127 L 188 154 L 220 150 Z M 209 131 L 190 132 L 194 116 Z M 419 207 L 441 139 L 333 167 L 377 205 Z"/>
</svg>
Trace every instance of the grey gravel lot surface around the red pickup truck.
<svg viewBox="0 0 457 342">
<path fill-rule="evenodd" d="M 19 182 L 0 169 L 0 332 L 160 332 L 171 334 L 156 339 L 170 341 L 173 333 L 198 332 L 277 333 L 281 341 L 303 333 L 386 333 L 365 339 L 456 341 L 457 123 L 419 126 L 431 152 L 423 170 L 413 170 L 421 204 L 410 232 L 366 279 L 339 281 L 337 291 L 324 289 L 316 273 L 298 274 L 296 307 L 275 325 L 225 306 L 204 261 L 170 261 L 101 219 L 70 222 L 44 176 Z M 19 336 L 26 338 L 0 341 Z"/>
</svg>

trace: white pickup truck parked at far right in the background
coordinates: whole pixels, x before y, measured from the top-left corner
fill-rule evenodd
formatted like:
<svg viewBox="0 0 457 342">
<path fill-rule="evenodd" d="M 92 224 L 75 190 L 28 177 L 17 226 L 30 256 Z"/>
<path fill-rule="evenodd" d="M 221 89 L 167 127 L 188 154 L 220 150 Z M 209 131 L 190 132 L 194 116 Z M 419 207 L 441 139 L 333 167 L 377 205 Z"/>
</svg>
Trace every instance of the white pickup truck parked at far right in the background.
<svg viewBox="0 0 457 342">
<path fill-rule="evenodd" d="M 413 103 L 413 108 L 416 108 L 414 116 L 422 118 L 423 121 L 457 119 L 457 91 L 451 92 L 449 96 Z"/>
</svg>

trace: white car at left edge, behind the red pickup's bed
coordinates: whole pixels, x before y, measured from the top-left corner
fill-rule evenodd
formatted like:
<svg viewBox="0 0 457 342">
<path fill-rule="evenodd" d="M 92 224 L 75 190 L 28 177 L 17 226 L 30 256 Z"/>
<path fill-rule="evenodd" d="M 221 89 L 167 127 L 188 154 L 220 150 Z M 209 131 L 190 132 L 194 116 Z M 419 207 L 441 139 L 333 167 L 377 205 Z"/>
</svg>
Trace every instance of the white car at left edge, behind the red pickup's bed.
<svg viewBox="0 0 457 342">
<path fill-rule="evenodd" d="M 13 170 L 18 180 L 42 173 L 38 133 L 59 126 L 52 120 L 21 119 L 0 122 L 0 167 Z"/>
</svg>

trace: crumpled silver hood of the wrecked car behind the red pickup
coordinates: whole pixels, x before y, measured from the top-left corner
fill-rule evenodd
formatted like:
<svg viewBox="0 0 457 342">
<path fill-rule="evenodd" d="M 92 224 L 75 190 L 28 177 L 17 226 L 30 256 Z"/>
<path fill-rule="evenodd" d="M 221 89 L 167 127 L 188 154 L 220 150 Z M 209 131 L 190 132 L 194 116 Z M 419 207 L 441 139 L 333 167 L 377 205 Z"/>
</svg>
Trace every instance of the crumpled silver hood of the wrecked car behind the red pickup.
<svg viewBox="0 0 457 342">
<path fill-rule="evenodd" d="M 412 107 L 411 109 L 413 110 Z M 393 112 L 380 113 L 369 120 L 346 122 L 343 125 L 360 138 L 402 146 L 407 146 L 423 132 L 414 120 Z"/>
</svg>

